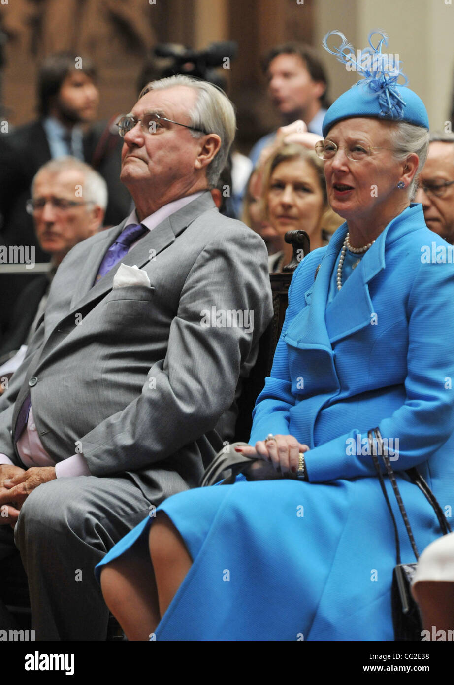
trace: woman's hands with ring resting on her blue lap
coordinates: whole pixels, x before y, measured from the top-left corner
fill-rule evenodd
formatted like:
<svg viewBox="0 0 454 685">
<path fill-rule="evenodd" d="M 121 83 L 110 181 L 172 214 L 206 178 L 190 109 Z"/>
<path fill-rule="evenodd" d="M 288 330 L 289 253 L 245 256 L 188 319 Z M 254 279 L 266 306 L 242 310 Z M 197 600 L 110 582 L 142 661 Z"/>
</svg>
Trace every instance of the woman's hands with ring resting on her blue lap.
<svg viewBox="0 0 454 685">
<path fill-rule="evenodd" d="M 255 447 L 236 447 L 236 451 L 247 457 L 264 462 L 251 464 L 245 475 L 250 480 L 296 478 L 299 467 L 299 453 L 309 451 L 307 445 L 299 443 L 292 435 L 275 435 L 268 440 L 258 440 Z"/>
</svg>

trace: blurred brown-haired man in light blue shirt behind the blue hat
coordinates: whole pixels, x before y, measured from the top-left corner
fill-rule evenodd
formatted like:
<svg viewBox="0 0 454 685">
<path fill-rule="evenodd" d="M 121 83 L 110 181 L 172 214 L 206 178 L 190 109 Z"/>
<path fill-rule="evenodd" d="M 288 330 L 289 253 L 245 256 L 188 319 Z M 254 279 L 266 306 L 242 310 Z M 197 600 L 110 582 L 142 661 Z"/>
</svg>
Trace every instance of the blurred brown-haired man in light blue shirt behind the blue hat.
<svg viewBox="0 0 454 685">
<path fill-rule="evenodd" d="M 265 55 L 262 69 L 268 78 L 268 96 L 282 125 L 302 119 L 310 133 L 320 135 L 327 111 L 328 79 L 318 52 L 298 42 L 278 45 Z M 249 154 L 254 166 L 275 135 L 270 133 L 255 143 Z"/>
</svg>

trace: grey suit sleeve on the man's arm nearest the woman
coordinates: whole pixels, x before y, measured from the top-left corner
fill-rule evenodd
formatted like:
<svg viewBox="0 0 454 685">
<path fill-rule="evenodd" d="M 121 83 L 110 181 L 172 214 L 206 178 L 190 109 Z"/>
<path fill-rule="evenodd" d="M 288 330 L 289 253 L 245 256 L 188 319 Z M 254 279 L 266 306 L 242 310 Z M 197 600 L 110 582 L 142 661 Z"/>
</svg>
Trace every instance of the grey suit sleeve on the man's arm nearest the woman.
<svg viewBox="0 0 454 685">
<path fill-rule="evenodd" d="M 230 323 L 241 317 L 242 325 L 229 325 L 228 312 L 236 312 Z M 81 437 L 92 475 L 140 469 L 214 429 L 272 315 L 264 242 L 232 222 L 192 265 L 166 356 L 149 370 L 141 395 Z"/>
</svg>

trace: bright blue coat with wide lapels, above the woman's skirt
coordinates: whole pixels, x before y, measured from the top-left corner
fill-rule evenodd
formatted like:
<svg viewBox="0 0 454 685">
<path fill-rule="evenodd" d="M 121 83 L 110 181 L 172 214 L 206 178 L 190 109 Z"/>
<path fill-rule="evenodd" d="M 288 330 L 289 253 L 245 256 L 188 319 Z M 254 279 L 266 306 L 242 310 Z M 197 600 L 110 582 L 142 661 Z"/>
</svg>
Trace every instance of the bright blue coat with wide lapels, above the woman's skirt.
<svg viewBox="0 0 454 685">
<path fill-rule="evenodd" d="M 310 447 L 310 482 L 352 479 L 375 474 L 370 456 L 355 447 L 378 425 L 390 445 L 399 440 L 394 471 L 418 466 L 450 516 L 454 248 L 429 231 L 414 204 L 379 235 L 327 306 L 346 230 L 342 224 L 294 274 L 250 442 L 269 432 L 293 434 Z M 426 263 L 428 250 L 440 263 Z"/>
</svg>

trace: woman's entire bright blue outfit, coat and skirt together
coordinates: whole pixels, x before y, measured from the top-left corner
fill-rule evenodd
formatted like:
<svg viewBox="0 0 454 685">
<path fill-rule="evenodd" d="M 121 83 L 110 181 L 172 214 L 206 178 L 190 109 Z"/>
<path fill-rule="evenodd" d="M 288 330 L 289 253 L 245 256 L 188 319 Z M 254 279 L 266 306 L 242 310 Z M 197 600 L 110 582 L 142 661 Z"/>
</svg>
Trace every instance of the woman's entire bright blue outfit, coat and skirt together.
<svg viewBox="0 0 454 685">
<path fill-rule="evenodd" d="M 271 432 L 307 443 L 310 482 L 238 479 L 162 503 L 194 563 L 157 627 L 158 640 L 392 640 L 394 532 L 372 459 L 362 453 L 367 430 L 377 425 L 393 440 L 392 465 L 420 551 L 441 531 L 405 469 L 418 466 L 451 516 L 448 246 L 427 229 L 421 206 L 412 206 L 386 227 L 327 305 L 345 233 L 344 224 L 294 274 L 249 440 Z M 444 253 L 444 263 L 425 263 L 425 246 L 440 262 Z M 402 561 L 413 562 L 386 486 Z M 105 561 L 134 545 L 149 523 Z"/>
</svg>

